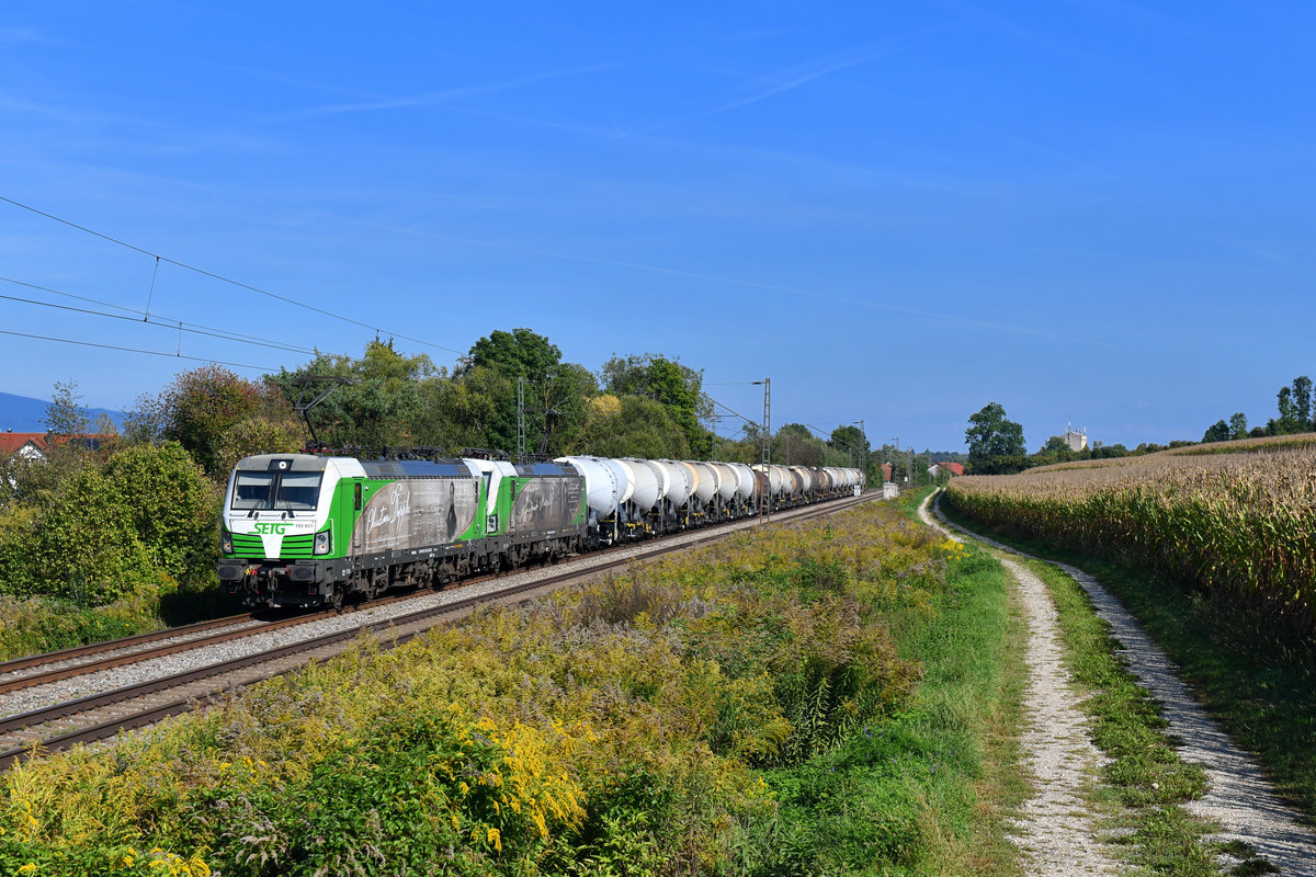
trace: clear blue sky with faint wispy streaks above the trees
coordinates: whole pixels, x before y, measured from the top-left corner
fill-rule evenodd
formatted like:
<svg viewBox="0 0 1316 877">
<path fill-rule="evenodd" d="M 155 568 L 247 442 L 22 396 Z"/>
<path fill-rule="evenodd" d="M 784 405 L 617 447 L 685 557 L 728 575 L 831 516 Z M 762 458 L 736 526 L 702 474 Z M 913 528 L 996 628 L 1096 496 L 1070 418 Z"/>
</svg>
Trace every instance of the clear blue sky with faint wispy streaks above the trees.
<svg viewBox="0 0 1316 877">
<path fill-rule="evenodd" d="M 0 276 L 440 364 L 528 326 L 919 448 L 988 401 L 1029 450 L 1199 439 L 1316 373 L 1309 4 L 376 7 L 0 14 L 0 196 L 365 326 L 167 263 L 151 291 L 5 202 Z M 3 298 L 0 329 L 307 359 Z M 0 335 L 25 396 L 128 408 L 196 364 Z"/>
</svg>

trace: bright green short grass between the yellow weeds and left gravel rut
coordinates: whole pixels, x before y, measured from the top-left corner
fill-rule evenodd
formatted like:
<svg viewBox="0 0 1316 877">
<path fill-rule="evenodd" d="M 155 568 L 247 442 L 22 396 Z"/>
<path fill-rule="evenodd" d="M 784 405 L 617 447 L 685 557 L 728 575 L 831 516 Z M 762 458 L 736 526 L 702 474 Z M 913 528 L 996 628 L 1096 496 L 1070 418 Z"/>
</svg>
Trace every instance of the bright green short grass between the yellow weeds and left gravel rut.
<svg viewBox="0 0 1316 877">
<path fill-rule="evenodd" d="M 770 772 L 794 856 L 771 873 L 1020 873 L 1008 814 L 1028 792 L 1017 769 L 1023 625 L 986 554 L 967 552 L 946 581 L 933 613 L 887 614 L 900 655 L 923 665 L 908 707 Z"/>
</svg>

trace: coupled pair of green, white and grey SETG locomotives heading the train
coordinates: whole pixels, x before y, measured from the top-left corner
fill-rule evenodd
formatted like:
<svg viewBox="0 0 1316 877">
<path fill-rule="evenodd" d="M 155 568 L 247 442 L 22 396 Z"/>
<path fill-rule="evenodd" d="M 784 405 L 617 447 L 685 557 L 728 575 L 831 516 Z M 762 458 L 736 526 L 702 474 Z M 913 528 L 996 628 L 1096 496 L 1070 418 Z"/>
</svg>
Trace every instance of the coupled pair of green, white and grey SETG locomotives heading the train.
<svg viewBox="0 0 1316 877">
<path fill-rule="evenodd" d="M 229 479 L 220 585 L 247 606 L 340 606 L 584 547 L 567 464 L 261 454 Z"/>
</svg>

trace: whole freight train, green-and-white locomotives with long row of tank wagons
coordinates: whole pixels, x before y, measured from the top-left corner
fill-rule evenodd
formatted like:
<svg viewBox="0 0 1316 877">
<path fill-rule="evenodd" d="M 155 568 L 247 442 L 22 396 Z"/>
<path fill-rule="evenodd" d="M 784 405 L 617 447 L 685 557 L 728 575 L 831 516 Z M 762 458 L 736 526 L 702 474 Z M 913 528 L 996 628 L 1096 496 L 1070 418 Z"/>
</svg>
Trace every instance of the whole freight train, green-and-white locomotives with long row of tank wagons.
<svg viewBox="0 0 1316 877">
<path fill-rule="evenodd" d="M 859 469 L 832 467 L 261 454 L 229 477 L 220 586 L 247 606 L 342 606 L 863 485 Z"/>
</svg>

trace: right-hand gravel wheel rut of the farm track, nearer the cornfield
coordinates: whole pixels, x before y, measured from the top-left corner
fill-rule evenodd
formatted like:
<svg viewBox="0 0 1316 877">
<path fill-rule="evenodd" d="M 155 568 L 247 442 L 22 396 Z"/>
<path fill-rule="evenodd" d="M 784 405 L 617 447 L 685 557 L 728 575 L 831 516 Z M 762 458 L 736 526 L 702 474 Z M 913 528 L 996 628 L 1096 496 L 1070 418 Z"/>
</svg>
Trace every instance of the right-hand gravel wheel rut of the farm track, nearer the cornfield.
<svg viewBox="0 0 1316 877">
<path fill-rule="evenodd" d="M 940 510 L 937 514 L 941 517 Z M 976 534 L 970 535 L 1001 551 L 1029 556 Z M 1182 742 L 1179 757 L 1195 761 L 1205 770 L 1205 797 L 1183 805 L 1184 810 L 1219 824 L 1220 831 L 1213 838 L 1246 843 L 1278 868 L 1278 873 L 1316 877 L 1316 832 L 1302 824 L 1298 814 L 1279 801 L 1255 760 L 1234 746 L 1225 730 L 1198 705 L 1192 692 L 1179 680 L 1170 657 L 1096 579 L 1069 564 L 1055 565 L 1087 592 L 1098 615 L 1111 625 L 1112 636 L 1123 647 L 1120 653 L 1138 684 L 1162 703 L 1163 717 L 1170 723 L 1169 732 Z M 1228 866 L 1230 863 L 1221 864 Z"/>
</svg>

